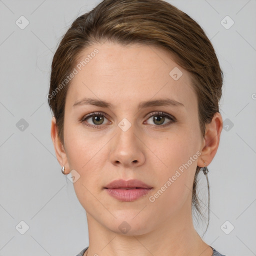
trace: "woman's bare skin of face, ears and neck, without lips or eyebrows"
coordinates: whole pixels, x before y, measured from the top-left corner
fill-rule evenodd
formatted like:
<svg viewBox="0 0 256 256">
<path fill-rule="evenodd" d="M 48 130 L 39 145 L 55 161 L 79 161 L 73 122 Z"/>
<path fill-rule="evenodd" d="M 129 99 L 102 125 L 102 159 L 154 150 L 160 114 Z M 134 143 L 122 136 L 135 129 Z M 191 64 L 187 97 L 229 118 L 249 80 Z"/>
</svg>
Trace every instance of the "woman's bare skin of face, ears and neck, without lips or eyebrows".
<svg viewBox="0 0 256 256">
<path fill-rule="evenodd" d="M 51 138 L 60 165 L 65 166 L 65 173 L 75 169 L 80 175 L 73 185 L 88 222 L 89 248 L 84 255 L 212 255 L 212 249 L 193 227 L 191 196 L 196 165 L 208 165 L 216 153 L 221 115 L 214 115 L 202 137 L 190 73 L 164 49 L 105 42 L 84 49 L 80 59 L 95 48 L 99 52 L 72 78 L 67 91 L 64 145 L 58 138 L 55 118 L 51 121 Z M 169 75 L 174 67 L 183 73 L 178 80 Z M 73 107 L 85 96 L 113 106 Z M 138 109 L 141 101 L 166 97 L 183 106 Z M 107 114 L 99 128 L 85 125 L 86 121 L 91 125 L 99 123 L 91 117 L 78 120 L 94 111 Z M 154 122 L 155 114 L 147 115 L 154 111 L 168 113 L 176 121 L 165 117 L 163 124 Z M 131 124 L 126 131 L 118 126 L 123 118 Z M 150 202 L 148 197 L 197 151 L 201 152 L 198 158 Z M 103 188 L 119 178 L 136 178 L 153 189 L 135 201 L 122 202 Z M 118 228 L 123 221 L 130 226 L 125 234 Z"/>
</svg>

